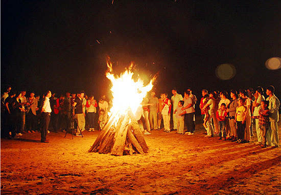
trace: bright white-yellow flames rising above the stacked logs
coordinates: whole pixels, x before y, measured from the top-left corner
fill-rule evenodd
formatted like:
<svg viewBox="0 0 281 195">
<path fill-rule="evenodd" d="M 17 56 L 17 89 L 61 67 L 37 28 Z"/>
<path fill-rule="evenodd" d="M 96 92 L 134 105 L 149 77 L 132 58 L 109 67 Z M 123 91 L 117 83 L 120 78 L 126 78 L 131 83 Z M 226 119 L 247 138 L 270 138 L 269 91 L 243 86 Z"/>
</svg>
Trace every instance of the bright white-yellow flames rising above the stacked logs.
<svg viewBox="0 0 281 195">
<path fill-rule="evenodd" d="M 110 89 L 113 96 L 113 106 L 110 110 L 111 116 L 124 115 L 128 110 L 135 114 L 144 97 L 152 90 L 155 77 L 145 85 L 140 78 L 137 78 L 137 80 L 133 78 L 133 63 L 120 76 L 114 76 L 112 73 L 112 64 L 109 59 L 107 59 L 107 67 L 106 77 L 112 83 L 112 88 Z"/>
</svg>

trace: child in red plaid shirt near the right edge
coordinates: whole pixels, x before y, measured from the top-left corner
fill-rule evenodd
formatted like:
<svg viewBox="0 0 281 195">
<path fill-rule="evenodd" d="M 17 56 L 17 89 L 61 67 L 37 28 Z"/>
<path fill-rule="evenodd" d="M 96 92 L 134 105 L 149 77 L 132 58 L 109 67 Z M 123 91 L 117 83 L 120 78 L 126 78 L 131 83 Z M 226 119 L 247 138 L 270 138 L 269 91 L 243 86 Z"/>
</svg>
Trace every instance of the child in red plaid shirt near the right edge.
<svg viewBox="0 0 281 195">
<path fill-rule="evenodd" d="M 262 144 L 261 147 L 266 147 L 266 132 L 269 127 L 269 109 L 268 109 L 268 101 L 261 101 L 261 109 L 259 110 L 259 127 L 262 135 Z"/>
</svg>

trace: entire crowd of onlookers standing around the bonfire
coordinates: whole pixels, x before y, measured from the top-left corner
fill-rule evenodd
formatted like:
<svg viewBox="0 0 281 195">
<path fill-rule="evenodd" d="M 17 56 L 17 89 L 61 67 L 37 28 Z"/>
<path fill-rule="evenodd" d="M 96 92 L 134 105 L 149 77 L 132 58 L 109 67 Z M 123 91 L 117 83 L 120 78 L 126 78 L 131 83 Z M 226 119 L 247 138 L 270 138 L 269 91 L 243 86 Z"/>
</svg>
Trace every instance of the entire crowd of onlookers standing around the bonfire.
<svg viewBox="0 0 281 195">
<path fill-rule="evenodd" d="M 50 133 L 49 129 L 54 132 L 75 129 L 76 136 L 83 136 L 85 129 L 89 132 L 100 130 L 108 120 L 110 101 L 108 103 L 105 96 L 97 101 L 84 91 L 78 94 L 67 92 L 59 97 L 48 91 L 42 98 L 34 92 L 27 98 L 26 91 L 14 93 L 11 86 L 6 89 L 1 97 L 1 134 L 4 138 L 40 131 L 41 142 L 48 142 L 46 134 Z M 202 90 L 199 107 L 206 130 L 205 137 L 218 136 L 219 139 L 247 143 L 251 141 L 255 124 L 255 144 L 278 147 L 280 101 L 274 95 L 274 90 L 272 85 L 268 86 L 265 93 L 261 86 L 255 90 L 231 90 L 230 99 L 226 91 Z M 144 134 L 160 130 L 162 121 L 166 133 L 176 131 L 182 135 L 194 134 L 197 97 L 190 88 L 183 97 L 176 89 L 172 90 L 172 94 L 171 99 L 166 93 L 157 98 L 152 91 L 144 98 L 135 114 Z M 266 99 L 265 94 L 268 96 Z"/>
</svg>

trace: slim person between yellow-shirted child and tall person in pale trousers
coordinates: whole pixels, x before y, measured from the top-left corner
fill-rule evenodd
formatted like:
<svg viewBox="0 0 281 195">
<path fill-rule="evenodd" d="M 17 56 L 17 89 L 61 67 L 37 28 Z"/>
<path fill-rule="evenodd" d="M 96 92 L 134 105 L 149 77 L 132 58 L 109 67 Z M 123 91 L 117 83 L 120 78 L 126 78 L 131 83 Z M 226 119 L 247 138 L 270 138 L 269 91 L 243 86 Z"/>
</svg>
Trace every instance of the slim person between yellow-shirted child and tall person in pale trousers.
<svg viewBox="0 0 281 195">
<path fill-rule="evenodd" d="M 250 111 L 250 106 L 251 106 L 251 99 L 247 97 L 247 92 L 246 90 L 240 90 L 240 97 L 244 99 L 244 105 L 247 109 L 245 113 L 245 121 L 246 121 L 246 127 L 245 127 L 245 141 L 250 142 L 251 140 L 251 111 Z"/>
</svg>

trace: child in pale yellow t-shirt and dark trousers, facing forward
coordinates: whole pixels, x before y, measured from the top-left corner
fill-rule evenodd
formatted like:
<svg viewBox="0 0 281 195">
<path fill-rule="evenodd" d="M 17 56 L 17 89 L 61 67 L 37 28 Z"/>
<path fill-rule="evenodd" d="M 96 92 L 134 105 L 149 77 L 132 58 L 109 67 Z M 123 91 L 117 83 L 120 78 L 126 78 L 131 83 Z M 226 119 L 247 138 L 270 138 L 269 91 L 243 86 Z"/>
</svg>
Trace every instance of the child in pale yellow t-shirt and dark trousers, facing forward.
<svg viewBox="0 0 281 195">
<path fill-rule="evenodd" d="M 244 99 L 240 98 L 238 100 L 238 106 L 236 108 L 235 122 L 237 124 L 237 143 L 244 143 L 245 136 L 245 114 L 246 107 L 244 106 Z"/>
</svg>

